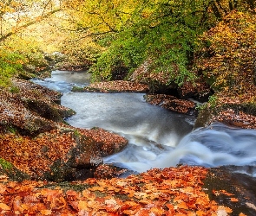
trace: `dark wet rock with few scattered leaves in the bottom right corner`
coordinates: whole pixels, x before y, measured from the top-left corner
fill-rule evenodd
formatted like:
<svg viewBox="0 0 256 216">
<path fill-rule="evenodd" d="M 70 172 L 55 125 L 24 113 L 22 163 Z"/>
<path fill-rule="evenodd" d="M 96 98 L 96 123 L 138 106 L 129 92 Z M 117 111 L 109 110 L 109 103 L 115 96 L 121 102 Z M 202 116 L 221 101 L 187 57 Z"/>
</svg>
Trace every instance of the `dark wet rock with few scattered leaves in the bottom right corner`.
<svg viewBox="0 0 256 216">
<path fill-rule="evenodd" d="M 231 215 L 256 215 L 255 173 L 254 166 L 211 168 L 203 187 L 211 200 L 230 207 Z"/>
</svg>

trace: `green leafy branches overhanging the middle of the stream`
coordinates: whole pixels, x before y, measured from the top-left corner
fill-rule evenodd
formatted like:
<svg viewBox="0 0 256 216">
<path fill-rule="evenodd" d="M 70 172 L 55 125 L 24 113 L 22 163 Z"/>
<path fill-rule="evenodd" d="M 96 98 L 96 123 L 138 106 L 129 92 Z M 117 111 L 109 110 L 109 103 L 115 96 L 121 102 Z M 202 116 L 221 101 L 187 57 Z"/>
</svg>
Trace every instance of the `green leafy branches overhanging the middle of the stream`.
<svg viewBox="0 0 256 216">
<path fill-rule="evenodd" d="M 138 5 L 131 20 L 115 33 L 112 41 L 104 41 L 110 46 L 92 68 L 94 78 L 112 79 L 118 65 L 133 72 L 144 60 L 150 59 L 153 73 L 169 73 L 169 82 L 181 84 L 185 79 L 194 79 L 188 69 L 194 40 L 202 31 L 200 16 L 193 14 L 197 7 L 194 1 Z"/>
</svg>

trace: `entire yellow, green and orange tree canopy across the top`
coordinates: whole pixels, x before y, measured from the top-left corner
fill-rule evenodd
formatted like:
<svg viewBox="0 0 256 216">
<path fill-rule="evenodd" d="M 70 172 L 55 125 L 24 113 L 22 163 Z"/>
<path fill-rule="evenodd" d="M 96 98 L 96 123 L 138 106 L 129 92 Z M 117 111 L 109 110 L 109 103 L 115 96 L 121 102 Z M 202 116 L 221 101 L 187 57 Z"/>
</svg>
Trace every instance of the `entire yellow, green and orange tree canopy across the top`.
<svg viewBox="0 0 256 216">
<path fill-rule="evenodd" d="M 77 64 L 89 64 L 94 80 L 128 79 L 146 61 L 151 73 L 166 74 L 166 84 L 181 86 L 203 74 L 215 90 L 233 85 L 238 64 L 248 60 L 251 71 L 244 71 L 253 73 L 253 0 L 1 0 L 0 6 L 4 77 L 20 71 L 20 64 L 35 63 L 49 50 L 69 55 Z M 241 24 L 235 24 L 237 19 Z M 243 31 L 251 32 L 248 44 Z M 10 47 L 13 41 L 21 45 Z M 247 47 L 249 59 L 233 58 L 226 66 L 223 52 L 240 56 Z M 7 60 L 9 52 L 14 61 Z M 36 64 L 43 68 L 42 62 Z"/>
</svg>

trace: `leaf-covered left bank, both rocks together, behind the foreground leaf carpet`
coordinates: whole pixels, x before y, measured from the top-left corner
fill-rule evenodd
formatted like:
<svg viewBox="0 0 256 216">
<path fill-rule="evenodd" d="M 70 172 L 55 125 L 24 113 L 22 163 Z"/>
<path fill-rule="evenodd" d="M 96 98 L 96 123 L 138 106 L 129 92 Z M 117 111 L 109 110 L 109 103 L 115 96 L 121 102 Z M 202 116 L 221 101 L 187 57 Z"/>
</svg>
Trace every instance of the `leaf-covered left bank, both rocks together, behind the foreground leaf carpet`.
<svg viewBox="0 0 256 216">
<path fill-rule="evenodd" d="M 65 124 L 63 118 L 75 112 L 59 105 L 59 92 L 20 79 L 13 79 L 13 86 L 15 91 L 0 92 L 0 157 L 26 178 L 84 179 L 94 175 L 103 156 L 127 145 L 126 139 L 106 130 Z"/>
</svg>

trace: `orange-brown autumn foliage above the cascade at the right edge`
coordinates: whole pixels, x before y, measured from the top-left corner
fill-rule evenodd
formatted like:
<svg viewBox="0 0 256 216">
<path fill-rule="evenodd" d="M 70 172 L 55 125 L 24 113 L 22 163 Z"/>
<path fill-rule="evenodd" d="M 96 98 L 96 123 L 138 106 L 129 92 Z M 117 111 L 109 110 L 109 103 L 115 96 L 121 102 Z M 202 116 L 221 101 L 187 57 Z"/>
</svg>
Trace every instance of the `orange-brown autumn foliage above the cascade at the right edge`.
<svg viewBox="0 0 256 216">
<path fill-rule="evenodd" d="M 255 27 L 255 15 L 234 10 L 201 36 L 196 67 L 215 90 L 241 93 L 254 86 Z"/>
</svg>

